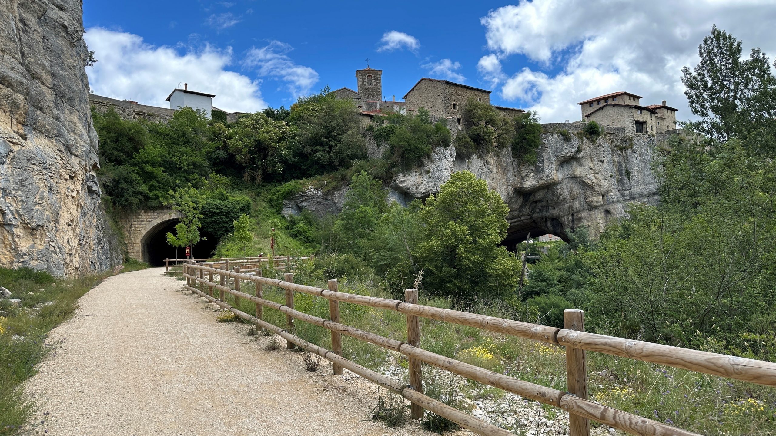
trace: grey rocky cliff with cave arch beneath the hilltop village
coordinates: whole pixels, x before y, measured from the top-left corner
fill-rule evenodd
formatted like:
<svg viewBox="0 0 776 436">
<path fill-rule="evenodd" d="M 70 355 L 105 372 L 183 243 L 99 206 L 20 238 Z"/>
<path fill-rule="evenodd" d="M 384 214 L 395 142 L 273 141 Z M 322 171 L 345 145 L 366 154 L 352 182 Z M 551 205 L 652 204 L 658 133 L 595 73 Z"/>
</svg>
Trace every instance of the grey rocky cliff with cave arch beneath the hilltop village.
<svg viewBox="0 0 776 436">
<path fill-rule="evenodd" d="M 598 234 L 606 224 L 625 216 L 631 202 L 656 204 L 657 182 L 652 170 L 656 140 L 648 135 L 626 136 L 623 129 L 606 127 L 598 140 L 585 139 L 584 123 L 544 124 L 539 161 L 519 164 L 511 151 L 494 151 L 468 159 L 456 157 L 454 147 L 437 148 L 419 168 L 393 178 L 391 197 L 400 202 L 423 199 L 456 171 L 472 171 L 507 202 L 510 213 L 508 241 L 551 233 L 566 237 L 568 230 L 586 226 Z M 660 138 L 659 140 L 664 140 Z M 338 212 L 341 200 L 323 192 L 305 192 L 297 199 L 315 197 L 317 209 Z M 328 206 L 321 206 L 327 204 Z M 294 213 L 293 208 L 285 213 Z"/>
</svg>

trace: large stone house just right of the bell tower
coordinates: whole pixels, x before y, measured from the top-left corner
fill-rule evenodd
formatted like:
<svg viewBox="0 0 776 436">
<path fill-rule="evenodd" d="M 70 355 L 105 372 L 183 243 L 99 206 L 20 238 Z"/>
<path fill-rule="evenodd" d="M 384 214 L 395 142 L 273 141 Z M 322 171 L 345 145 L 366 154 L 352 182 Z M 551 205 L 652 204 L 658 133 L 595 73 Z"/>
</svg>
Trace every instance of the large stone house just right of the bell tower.
<svg viewBox="0 0 776 436">
<path fill-rule="evenodd" d="M 453 136 L 464 128 L 463 109 L 469 99 L 490 104 L 490 91 L 454 81 L 421 78 L 404 95 L 407 113 L 417 113 L 417 109 L 420 108 L 428 109 L 431 112 L 431 120 L 434 122 L 445 120 Z M 522 109 L 504 106 L 494 106 L 494 108 L 504 116 L 516 116 L 525 112 Z"/>
</svg>

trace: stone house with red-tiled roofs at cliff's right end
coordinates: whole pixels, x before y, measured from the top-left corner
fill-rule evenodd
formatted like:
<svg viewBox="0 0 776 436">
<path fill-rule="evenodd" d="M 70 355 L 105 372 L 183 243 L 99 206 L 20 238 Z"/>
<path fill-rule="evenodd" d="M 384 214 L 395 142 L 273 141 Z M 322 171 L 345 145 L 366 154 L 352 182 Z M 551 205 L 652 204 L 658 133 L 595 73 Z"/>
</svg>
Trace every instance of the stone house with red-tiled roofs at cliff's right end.
<svg viewBox="0 0 776 436">
<path fill-rule="evenodd" d="M 623 127 L 625 133 L 665 133 L 676 128 L 676 111 L 661 105 L 642 106 L 642 97 L 630 92 L 612 92 L 577 103 L 582 119 L 602 126 Z"/>
</svg>

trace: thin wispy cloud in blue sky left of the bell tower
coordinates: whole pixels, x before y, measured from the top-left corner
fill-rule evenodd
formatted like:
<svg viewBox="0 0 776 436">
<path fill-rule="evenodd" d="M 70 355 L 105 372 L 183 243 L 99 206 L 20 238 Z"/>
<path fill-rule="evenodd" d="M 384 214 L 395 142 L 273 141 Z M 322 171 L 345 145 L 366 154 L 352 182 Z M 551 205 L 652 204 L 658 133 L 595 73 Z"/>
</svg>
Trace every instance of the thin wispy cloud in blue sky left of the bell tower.
<svg viewBox="0 0 776 436">
<path fill-rule="evenodd" d="M 287 43 L 272 41 L 266 47 L 252 47 L 243 61 L 245 67 L 258 68 L 258 75 L 286 82 L 293 95 L 307 95 L 318 81 L 318 73 L 310 67 L 296 64 L 289 56 L 293 50 Z"/>
</svg>

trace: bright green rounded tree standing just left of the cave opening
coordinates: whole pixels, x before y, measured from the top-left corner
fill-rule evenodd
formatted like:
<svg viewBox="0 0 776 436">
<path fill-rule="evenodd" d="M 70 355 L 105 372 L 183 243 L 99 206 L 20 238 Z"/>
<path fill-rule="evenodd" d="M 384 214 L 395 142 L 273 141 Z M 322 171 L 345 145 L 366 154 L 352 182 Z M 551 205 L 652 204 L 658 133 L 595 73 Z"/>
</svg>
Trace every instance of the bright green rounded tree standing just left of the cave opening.
<svg viewBox="0 0 776 436">
<path fill-rule="evenodd" d="M 415 257 L 425 289 L 469 303 L 514 292 L 520 262 L 499 246 L 508 213 L 485 181 L 469 171 L 454 173 L 421 207 L 424 228 Z"/>
</svg>

